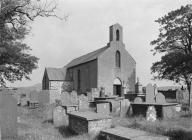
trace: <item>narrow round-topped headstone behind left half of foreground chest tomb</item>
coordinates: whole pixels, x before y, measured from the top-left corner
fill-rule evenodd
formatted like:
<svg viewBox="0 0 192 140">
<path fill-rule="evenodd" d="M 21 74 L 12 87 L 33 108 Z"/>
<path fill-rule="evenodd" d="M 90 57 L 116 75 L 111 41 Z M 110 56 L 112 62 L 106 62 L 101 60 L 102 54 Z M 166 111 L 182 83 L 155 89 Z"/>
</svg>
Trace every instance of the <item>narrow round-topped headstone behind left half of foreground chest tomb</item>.
<svg viewBox="0 0 192 140">
<path fill-rule="evenodd" d="M 79 111 L 88 111 L 89 110 L 89 102 L 88 98 L 81 94 L 78 99 Z"/>
</svg>

